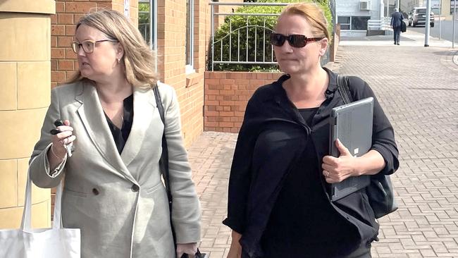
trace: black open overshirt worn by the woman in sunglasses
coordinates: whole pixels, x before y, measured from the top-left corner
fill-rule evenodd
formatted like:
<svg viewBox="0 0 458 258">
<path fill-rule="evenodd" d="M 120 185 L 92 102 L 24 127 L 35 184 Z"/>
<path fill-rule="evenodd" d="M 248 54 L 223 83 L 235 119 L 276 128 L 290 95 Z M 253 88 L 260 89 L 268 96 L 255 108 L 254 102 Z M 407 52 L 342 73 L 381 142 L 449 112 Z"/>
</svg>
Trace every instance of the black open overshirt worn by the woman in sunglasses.
<svg viewBox="0 0 458 258">
<path fill-rule="evenodd" d="M 251 257 L 261 253 L 259 241 L 281 189 L 281 178 L 294 166 L 307 140 L 314 142 L 318 157 L 316 162 L 320 167 L 323 156 L 329 154 L 328 118 L 333 107 L 344 103 L 336 91 L 337 74 L 326 71 L 330 78 L 326 100 L 314 115 L 311 128 L 282 87 L 288 75 L 259 87 L 249 99 L 235 147 L 229 180 L 228 217 L 223 223 L 242 233 L 242 248 Z M 394 173 L 399 161 L 390 121 L 366 82 L 349 77 L 349 87 L 355 101 L 374 97 L 372 149 L 380 152 L 385 159 L 385 168 L 380 173 Z M 266 133 L 275 134 L 277 140 L 263 141 Z M 348 195 L 334 202 L 333 207 L 357 228 L 361 242 L 376 239 L 378 224 L 365 191 Z"/>
</svg>

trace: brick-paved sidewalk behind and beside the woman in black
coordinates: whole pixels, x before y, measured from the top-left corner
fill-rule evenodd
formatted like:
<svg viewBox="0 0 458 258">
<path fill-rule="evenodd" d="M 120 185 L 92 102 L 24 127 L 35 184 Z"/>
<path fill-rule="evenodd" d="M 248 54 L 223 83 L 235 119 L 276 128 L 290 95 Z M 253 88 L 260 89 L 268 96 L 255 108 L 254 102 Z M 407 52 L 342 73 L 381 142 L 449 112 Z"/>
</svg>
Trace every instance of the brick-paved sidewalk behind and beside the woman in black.
<svg viewBox="0 0 458 258">
<path fill-rule="evenodd" d="M 400 169 L 392 176 L 400 209 L 380 219 L 373 257 L 458 257 L 458 65 L 440 41 L 406 33 L 391 39 L 342 39 L 334 69 L 371 85 L 395 128 Z M 411 41 L 409 41 L 410 39 Z M 190 147 L 202 204 L 200 249 L 225 257 L 223 226 L 237 134 L 206 132 Z M 286 257 L 287 258 L 287 257 Z"/>
</svg>

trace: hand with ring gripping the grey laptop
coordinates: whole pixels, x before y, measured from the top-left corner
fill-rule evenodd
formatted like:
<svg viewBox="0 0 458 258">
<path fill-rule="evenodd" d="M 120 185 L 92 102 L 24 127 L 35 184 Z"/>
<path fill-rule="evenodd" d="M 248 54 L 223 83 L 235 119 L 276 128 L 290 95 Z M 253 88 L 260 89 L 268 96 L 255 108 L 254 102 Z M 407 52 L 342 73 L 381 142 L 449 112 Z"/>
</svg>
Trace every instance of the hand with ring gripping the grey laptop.
<svg viewBox="0 0 458 258">
<path fill-rule="evenodd" d="M 342 145 L 340 140 L 335 141 L 335 146 L 338 147 L 340 156 L 338 158 L 324 156 L 323 164 L 321 164 L 326 182 L 338 183 L 350 176 L 359 176 L 356 169 L 357 158 L 349 152 L 347 147 Z"/>
</svg>

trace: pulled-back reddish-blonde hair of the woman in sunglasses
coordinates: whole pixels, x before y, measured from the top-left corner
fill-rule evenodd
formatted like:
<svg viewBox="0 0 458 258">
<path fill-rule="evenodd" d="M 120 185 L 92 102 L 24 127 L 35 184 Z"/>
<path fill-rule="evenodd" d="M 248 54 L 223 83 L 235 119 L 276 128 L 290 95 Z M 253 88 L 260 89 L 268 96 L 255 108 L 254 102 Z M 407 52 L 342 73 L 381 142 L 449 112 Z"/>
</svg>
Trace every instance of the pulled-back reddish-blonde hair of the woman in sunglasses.
<svg viewBox="0 0 458 258">
<path fill-rule="evenodd" d="M 299 15 L 304 17 L 313 28 L 312 34 L 314 37 L 326 37 L 330 40 L 330 33 L 328 30 L 328 20 L 324 16 L 323 9 L 320 8 L 317 4 L 314 3 L 299 3 L 299 4 L 290 4 L 282 13 L 280 13 L 280 18 L 283 16 L 292 16 Z"/>
</svg>

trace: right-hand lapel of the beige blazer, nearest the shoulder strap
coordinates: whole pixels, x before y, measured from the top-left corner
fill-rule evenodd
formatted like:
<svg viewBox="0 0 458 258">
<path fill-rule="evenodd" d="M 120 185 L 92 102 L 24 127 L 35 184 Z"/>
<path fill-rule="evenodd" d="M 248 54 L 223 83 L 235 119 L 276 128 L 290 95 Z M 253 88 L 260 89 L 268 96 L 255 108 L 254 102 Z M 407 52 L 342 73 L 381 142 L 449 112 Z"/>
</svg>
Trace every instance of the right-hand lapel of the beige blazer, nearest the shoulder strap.
<svg viewBox="0 0 458 258">
<path fill-rule="evenodd" d="M 156 110 L 156 99 L 154 99 L 154 92 L 151 89 L 134 88 L 134 119 L 132 128 L 127 142 L 125 142 L 123 152 L 121 152 L 121 159 L 125 166 L 140 152 L 145 135 L 151 125 L 151 120 Z"/>
</svg>

